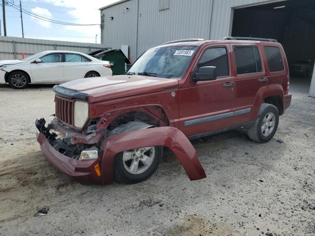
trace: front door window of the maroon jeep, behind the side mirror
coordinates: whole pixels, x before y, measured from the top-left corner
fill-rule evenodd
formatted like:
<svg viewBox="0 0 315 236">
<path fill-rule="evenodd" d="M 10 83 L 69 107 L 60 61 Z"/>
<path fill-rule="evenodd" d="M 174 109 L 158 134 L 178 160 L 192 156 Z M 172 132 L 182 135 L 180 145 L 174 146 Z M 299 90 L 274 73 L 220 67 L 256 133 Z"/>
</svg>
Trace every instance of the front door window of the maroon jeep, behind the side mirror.
<svg viewBox="0 0 315 236">
<path fill-rule="evenodd" d="M 228 76 L 226 49 L 224 47 L 207 49 L 199 60 L 197 69 L 199 70 L 199 68 L 203 66 L 216 66 L 218 77 Z"/>
</svg>

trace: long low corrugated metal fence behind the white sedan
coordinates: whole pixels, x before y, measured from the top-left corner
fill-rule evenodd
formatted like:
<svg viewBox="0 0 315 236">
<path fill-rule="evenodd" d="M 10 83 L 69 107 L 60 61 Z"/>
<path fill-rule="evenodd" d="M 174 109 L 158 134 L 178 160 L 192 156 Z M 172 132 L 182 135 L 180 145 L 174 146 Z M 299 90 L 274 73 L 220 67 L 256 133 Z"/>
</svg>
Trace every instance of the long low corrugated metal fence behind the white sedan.
<svg viewBox="0 0 315 236">
<path fill-rule="evenodd" d="M 32 38 L 4 37 L 0 36 L 0 60 L 22 59 L 25 57 L 48 50 L 67 50 L 87 53 L 91 50 L 105 48 L 102 44 L 77 43 L 66 41 L 54 41 Z"/>
</svg>

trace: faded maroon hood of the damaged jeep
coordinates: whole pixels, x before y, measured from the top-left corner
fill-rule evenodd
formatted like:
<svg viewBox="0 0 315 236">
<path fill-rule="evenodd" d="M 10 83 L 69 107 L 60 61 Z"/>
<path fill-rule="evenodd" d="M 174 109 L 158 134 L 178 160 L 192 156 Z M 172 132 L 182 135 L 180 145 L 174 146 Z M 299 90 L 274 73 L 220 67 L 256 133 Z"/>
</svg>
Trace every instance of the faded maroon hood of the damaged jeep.
<svg viewBox="0 0 315 236">
<path fill-rule="evenodd" d="M 164 79 L 149 76 L 117 75 L 92 77 L 66 82 L 54 87 L 63 96 L 86 99 L 89 102 L 118 99 L 164 89 L 178 89 L 177 79 Z"/>
</svg>

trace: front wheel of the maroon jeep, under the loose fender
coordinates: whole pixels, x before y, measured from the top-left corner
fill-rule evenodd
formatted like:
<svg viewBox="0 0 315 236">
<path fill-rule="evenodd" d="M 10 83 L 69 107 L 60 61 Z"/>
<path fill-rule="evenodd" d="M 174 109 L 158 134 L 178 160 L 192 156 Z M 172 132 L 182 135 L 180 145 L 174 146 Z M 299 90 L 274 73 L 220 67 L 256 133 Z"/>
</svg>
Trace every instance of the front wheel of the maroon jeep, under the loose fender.
<svg viewBox="0 0 315 236">
<path fill-rule="evenodd" d="M 114 159 L 117 181 L 137 183 L 149 178 L 162 160 L 163 147 L 144 147 L 120 152 Z"/>
</svg>

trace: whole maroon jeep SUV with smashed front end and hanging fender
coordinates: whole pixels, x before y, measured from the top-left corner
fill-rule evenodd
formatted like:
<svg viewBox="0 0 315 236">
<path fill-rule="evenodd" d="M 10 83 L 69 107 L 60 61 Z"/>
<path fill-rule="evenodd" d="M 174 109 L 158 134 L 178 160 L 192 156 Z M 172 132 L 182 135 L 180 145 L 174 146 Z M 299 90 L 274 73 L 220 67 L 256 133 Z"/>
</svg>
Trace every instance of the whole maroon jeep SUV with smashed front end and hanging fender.
<svg viewBox="0 0 315 236">
<path fill-rule="evenodd" d="M 135 183 L 170 148 L 191 180 L 206 177 L 189 142 L 243 127 L 268 142 L 291 102 L 284 49 L 274 39 L 185 39 L 151 48 L 125 75 L 54 87 L 55 118 L 36 120 L 47 158 L 80 181 Z"/>
</svg>

